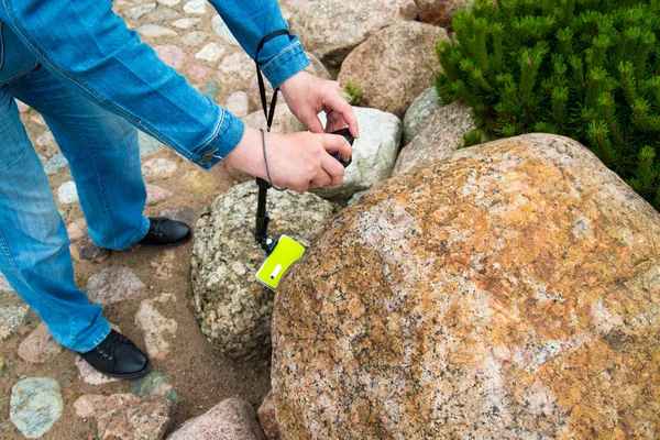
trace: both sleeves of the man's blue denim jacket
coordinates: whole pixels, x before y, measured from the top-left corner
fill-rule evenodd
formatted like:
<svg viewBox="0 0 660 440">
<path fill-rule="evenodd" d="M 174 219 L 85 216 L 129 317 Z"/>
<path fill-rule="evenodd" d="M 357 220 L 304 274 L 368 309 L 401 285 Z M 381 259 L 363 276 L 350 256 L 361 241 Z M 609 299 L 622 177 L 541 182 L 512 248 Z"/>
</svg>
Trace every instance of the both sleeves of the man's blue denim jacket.
<svg viewBox="0 0 660 440">
<path fill-rule="evenodd" d="M 251 43 L 263 36 L 258 33 L 265 35 L 270 28 L 244 22 L 251 19 L 243 15 L 243 3 L 250 4 L 249 10 L 256 3 L 276 11 L 278 20 L 282 15 L 275 0 L 218 8 L 250 53 Z M 243 122 L 193 88 L 141 43 L 112 12 L 111 0 L 0 0 L 0 20 L 50 72 L 202 168 L 213 166 L 240 142 Z M 266 24 L 278 25 L 278 20 Z M 286 36 L 276 40 L 263 53 L 262 68 L 270 80 L 283 81 L 299 72 L 302 63 L 288 55 L 299 43 Z"/>
</svg>

